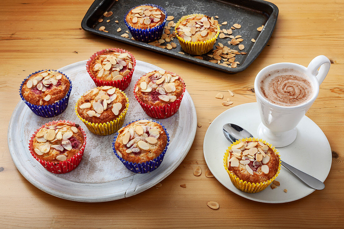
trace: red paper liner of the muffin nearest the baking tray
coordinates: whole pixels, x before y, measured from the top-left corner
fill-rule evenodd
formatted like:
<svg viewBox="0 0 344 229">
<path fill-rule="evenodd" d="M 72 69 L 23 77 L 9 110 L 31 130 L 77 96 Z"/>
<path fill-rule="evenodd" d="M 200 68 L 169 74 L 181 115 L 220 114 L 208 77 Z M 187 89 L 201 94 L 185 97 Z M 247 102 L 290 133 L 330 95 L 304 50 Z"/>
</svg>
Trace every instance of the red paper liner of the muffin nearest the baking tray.
<svg viewBox="0 0 344 229">
<path fill-rule="evenodd" d="M 128 75 L 123 77 L 123 79 L 120 79 L 120 80 L 117 80 L 117 81 L 111 81 L 111 80 L 105 81 L 105 80 L 97 79 L 97 77 L 94 77 L 92 75 L 92 73 L 90 72 L 89 66 L 90 66 L 91 62 L 94 60 L 94 58 L 96 58 L 96 56 L 99 56 L 99 55 L 101 55 L 102 53 L 104 53 L 105 51 L 108 51 L 108 50 L 114 50 L 114 51 L 116 51 L 118 53 L 129 53 L 130 54 L 131 61 L 133 62 L 132 69 L 131 69 L 131 71 L 130 71 L 130 73 Z M 88 59 L 88 61 L 86 63 L 86 70 L 87 70 L 89 76 L 93 79 L 94 83 L 97 85 L 97 87 L 100 87 L 100 86 L 111 86 L 111 87 L 117 87 L 120 90 L 124 90 L 124 89 L 126 89 L 129 86 L 129 84 L 131 82 L 131 77 L 132 77 L 132 74 L 134 72 L 135 66 L 136 66 L 135 57 L 130 52 L 128 52 L 126 50 L 119 49 L 119 48 L 106 48 L 106 49 L 100 50 L 100 51 L 94 53 L 92 56 L 90 56 L 90 58 Z"/>
</svg>

